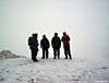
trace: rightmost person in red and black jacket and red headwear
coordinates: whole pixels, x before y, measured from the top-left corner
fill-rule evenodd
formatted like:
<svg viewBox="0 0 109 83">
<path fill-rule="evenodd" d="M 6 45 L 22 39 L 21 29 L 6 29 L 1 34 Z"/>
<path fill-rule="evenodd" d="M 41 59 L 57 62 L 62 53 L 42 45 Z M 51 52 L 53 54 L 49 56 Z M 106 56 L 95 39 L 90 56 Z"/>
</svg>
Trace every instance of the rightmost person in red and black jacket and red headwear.
<svg viewBox="0 0 109 83">
<path fill-rule="evenodd" d="M 72 59 L 71 51 L 70 51 L 70 37 L 66 35 L 65 32 L 63 32 L 63 36 L 62 36 L 61 40 L 63 43 L 63 48 L 64 48 L 64 55 L 65 55 L 64 59 L 68 59 L 68 55 L 69 55 L 70 59 Z"/>
</svg>

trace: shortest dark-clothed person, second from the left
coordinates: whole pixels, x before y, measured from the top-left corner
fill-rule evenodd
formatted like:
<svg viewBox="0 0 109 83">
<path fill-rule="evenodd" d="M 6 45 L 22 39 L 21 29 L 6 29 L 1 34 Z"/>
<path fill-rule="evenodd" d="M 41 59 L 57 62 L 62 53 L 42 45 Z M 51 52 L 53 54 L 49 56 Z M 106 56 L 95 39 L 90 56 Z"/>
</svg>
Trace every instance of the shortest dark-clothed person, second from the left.
<svg viewBox="0 0 109 83">
<path fill-rule="evenodd" d="M 46 35 L 43 35 L 43 39 L 40 40 L 40 48 L 43 49 L 41 59 L 45 59 L 45 54 L 46 54 L 46 59 L 48 59 L 49 40 L 47 39 Z"/>
</svg>

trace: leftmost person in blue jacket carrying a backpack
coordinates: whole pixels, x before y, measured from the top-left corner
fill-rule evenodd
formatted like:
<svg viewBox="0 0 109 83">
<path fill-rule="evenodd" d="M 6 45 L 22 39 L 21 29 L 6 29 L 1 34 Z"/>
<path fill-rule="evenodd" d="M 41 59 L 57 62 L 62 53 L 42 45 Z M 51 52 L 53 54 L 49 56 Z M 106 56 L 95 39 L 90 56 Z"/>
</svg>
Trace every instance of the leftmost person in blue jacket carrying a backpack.
<svg viewBox="0 0 109 83">
<path fill-rule="evenodd" d="M 38 62 L 38 60 L 36 59 L 37 57 L 37 52 L 38 52 L 38 40 L 37 40 L 38 34 L 35 33 L 33 34 L 33 37 L 28 38 L 28 46 L 32 50 L 32 60 L 34 62 Z"/>
</svg>

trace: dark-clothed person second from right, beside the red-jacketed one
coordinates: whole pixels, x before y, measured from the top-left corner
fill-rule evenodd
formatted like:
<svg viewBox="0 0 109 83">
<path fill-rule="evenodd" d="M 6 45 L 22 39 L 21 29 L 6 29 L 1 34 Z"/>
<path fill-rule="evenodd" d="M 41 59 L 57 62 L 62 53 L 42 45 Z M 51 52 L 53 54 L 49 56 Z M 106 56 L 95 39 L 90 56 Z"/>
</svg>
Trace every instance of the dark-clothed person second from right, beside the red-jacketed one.
<svg viewBox="0 0 109 83">
<path fill-rule="evenodd" d="M 58 33 L 55 33 L 55 36 L 51 39 L 51 45 L 53 48 L 53 59 L 56 59 L 57 55 L 58 55 L 58 59 L 60 59 L 61 40 L 60 37 L 58 36 Z"/>
</svg>

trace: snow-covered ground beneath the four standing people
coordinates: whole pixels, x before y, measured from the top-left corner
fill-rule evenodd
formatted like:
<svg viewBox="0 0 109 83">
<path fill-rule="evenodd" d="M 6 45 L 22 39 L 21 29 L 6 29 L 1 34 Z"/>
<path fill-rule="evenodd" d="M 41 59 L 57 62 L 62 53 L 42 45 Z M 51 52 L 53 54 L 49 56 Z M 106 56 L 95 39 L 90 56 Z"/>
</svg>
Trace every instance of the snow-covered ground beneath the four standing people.
<svg viewBox="0 0 109 83">
<path fill-rule="evenodd" d="M 109 57 L 99 57 L 38 58 L 39 62 L 25 57 L 1 59 L 0 83 L 109 83 Z"/>
</svg>

